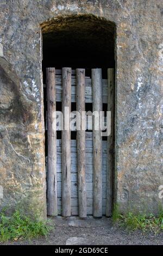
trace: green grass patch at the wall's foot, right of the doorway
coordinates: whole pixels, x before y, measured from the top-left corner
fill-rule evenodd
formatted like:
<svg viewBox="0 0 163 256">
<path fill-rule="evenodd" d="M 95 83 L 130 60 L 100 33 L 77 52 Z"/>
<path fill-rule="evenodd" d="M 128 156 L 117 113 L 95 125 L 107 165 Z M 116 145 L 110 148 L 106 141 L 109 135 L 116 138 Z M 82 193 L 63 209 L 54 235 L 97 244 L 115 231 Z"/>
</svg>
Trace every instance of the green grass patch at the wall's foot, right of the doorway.
<svg viewBox="0 0 163 256">
<path fill-rule="evenodd" d="M 121 227 L 128 230 L 142 230 L 142 231 L 152 231 L 155 234 L 163 231 L 163 210 L 159 208 L 158 216 L 153 214 L 134 214 L 128 211 L 126 214 L 120 214 L 118 205 L 114 206 L 114 211 L 112 214 L 112 220 L 114 223 L 120 224 Z"/>
</svg>

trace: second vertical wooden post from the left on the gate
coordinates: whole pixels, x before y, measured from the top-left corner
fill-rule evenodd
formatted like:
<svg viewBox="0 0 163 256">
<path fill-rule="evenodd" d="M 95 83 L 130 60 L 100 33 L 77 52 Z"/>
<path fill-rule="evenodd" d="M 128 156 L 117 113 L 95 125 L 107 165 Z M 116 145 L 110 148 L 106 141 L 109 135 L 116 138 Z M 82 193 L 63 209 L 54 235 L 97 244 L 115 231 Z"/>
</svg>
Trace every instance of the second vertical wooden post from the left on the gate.
<svg viewBox="0 0 163 256">
<path fill-rule="evenodd" d="M 68 111 L 67 111 L 67 110 Z M 67 111 L 67 113 L 66 113 Z M 71 131 L 65 119 L 70 120 L 71 112 L 71 68 L 62 68 L 62 216 L 71 216 Z M 68 116 L 69 115 L 69 116 Z"/>
</svg>

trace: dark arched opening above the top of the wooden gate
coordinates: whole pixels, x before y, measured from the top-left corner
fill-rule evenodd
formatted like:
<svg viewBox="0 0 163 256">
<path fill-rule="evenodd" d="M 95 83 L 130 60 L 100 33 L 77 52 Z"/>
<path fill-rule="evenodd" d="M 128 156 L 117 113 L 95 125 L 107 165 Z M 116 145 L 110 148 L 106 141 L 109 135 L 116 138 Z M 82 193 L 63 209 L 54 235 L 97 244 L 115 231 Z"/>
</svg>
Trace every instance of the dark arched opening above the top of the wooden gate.
<svg viewBox="0 0 163 256">
<path fill-rule="evenodd" d="M 42 69 L 114 68 L 114 23 L 92 15 L 61 17 L 42 25 Z M 45 79 L 45 76 L 44 76 Z"/>
</svg>

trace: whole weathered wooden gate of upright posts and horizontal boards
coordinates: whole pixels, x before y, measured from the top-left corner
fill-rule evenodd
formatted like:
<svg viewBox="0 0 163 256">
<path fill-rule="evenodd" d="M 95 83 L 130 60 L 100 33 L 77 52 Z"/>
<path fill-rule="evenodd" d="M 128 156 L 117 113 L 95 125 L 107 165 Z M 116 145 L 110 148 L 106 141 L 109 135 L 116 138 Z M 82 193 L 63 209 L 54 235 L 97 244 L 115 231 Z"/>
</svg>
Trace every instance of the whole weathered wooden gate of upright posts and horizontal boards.
<svg viewBox="0 0 163 256">
<path fill-rule="evenodd" d="M 47 87 L 47 211 L 48 215 L 65 217 L 87 215 L 110 216 L 112 208 L 112 169 L 114 148 L 114 69 L 108 69 L 108 79 L 102 79 L 101 69 L 92 69 L 91 77 L 85 69 L 46 69 Z M 111 134 L 103 140 L 96 130 L 96 118 L 86 119 L 87 130 L 78 130 L 76 139 L 71 131 L 61 129 L 60 115 L 53 115 L 56 105 L 62 109 L 76 103 L 78 112 L 85 111 L 86 103 L 93 111 L 103 105 L 111 111 Z M 63 114 L 63 123 L 67 114 Z M 81 123 L 82 125 L 82 118 Z M 84 123 L 84 121 L 83 121 Z M 57 131 L 56 131 L 57 130 Z M 61 138 L 57 132 L 61 131 Z"/>
</svg>

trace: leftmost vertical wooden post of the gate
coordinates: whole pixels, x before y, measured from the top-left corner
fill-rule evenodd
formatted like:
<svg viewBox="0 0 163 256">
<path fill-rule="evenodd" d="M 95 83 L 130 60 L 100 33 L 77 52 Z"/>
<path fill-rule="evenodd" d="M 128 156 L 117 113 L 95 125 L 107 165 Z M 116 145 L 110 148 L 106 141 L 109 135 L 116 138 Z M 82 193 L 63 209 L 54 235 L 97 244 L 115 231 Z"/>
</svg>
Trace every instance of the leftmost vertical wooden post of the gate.
<svg viewBox="0 0 163 256">
<path fill-rule="evenodd" d="M 55 127 L 55 68 L 46 69 L 47 126 L 48 126 L 48 174 L 47 214 L 57 216 L 57 133 Z"/>
</svg>

